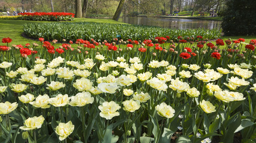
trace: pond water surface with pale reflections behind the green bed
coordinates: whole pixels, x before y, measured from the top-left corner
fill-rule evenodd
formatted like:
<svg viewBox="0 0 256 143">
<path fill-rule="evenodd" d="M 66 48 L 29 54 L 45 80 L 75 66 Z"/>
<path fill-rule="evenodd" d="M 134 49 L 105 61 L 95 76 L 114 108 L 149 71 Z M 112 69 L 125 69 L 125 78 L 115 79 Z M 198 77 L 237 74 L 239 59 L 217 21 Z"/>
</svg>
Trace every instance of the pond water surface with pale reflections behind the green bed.
<svg viewBox="0 0 256 143">
<path fill-rule="evenodd" d="M 213 20 L 195 20 L 183 18 L 147 18 L 147 17 L 120 17 L 118 21 L 145 25 L 145 26 L 159 26 L 171 29 L 221 29 L 221 21 Z"/>
</svg>

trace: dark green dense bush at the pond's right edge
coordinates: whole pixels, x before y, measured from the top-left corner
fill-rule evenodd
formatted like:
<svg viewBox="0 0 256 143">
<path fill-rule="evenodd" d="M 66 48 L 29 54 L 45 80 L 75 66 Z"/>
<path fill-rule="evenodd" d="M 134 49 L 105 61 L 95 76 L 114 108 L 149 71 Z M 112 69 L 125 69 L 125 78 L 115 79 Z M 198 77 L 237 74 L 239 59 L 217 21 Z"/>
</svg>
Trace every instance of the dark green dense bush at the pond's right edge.
<svg viewBox="0 0 256 143">
<path fill-rule="evenodd" d="M 221 13 L 221 26 L 225 35 L 255 35 L 255 7 L 254 0 L 229 0 L 226 10 Z"/>
</svg>

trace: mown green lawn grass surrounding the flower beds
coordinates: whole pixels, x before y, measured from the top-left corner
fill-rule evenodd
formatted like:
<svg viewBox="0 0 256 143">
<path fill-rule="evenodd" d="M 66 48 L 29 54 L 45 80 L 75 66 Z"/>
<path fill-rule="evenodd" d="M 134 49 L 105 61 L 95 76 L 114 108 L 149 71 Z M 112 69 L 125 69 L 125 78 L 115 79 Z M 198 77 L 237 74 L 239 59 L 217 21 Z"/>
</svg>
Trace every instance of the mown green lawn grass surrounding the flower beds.
<svg viewBox="0 0 256 143">
<path fill-rule="evenodd" d="M 82 21 L 88 21 L 88 22 L 97 22 L 97 23 L 113 23 L 113 24 L 121 24 L 121 22 L 115 21 L 115 20 L 109 20 L 109 19 L 92 19 L 92 18 L 75 18 L 74 21 L 68 21 L 68 22 L 82 22 Z M 25 23 L 50 23 L 52 21 L 25 21 L 25 20 L 0 20 L 0 40 L 2 38 L 10 37 L 13 39 L 13 42 L 11 44 L 22 44 L 25 45 L 26 43 L 34 43 L 38 40 L 34 39 L 27 39 L 22 36 L 23 27 L 22 25 Z M 122 23 L 125 24 L 125 23 Z M 220 37 L 224 41 L 228 38 L 231 39 L 239 39 L 244 38 L 246 43 L 249 43 L 251 39 L 256 39 L 256 36 L 223 36 Z M 213 42 L 215 43 L 215 42 Z M 1 43 L 1 45 L 4 45 Z M 56 45 L 58 47 L 58 45 Z"/>
</svg>

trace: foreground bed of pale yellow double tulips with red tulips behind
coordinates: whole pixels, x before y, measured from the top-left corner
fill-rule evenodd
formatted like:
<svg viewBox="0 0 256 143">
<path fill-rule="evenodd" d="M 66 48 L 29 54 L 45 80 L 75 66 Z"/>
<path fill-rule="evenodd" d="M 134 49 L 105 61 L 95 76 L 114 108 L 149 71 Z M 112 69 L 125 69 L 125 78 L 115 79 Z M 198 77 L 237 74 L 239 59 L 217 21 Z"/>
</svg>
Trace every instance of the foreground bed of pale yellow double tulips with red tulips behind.
<svg viewBox="0 0 256 143">
<path fill-rule="evenodd" d="M 11 41 L 0 142 L 256 141 L 255 39 Z"/>
</svg>

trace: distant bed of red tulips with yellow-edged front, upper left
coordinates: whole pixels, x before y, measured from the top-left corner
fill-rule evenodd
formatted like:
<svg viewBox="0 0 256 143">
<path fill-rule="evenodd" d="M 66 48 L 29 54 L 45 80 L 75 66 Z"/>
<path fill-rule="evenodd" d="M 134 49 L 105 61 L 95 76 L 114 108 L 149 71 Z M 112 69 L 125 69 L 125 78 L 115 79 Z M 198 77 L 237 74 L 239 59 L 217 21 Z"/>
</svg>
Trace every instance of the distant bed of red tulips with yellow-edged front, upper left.
<svg viewBox="0 0 256 143">
<path fill-rule="evenodd" d="M 73 13 L 19 13 L 22 20 L 34 21 L 70 21 L 74 20 Z"/>
</svg>

